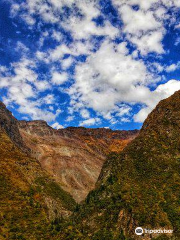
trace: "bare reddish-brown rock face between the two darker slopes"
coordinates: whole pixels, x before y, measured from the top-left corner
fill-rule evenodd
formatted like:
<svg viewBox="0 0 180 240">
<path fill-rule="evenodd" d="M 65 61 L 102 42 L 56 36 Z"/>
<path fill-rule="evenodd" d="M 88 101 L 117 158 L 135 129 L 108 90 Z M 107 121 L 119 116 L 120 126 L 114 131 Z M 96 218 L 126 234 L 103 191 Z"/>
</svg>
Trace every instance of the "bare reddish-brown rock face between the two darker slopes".
<svg viewBox="0 0 180 240">
<path fill-rule="evenodd" d="M 19 130 L 42 168 L 77 202 L 94 188 L 107 154 L 122 151 L 138 135 L 137 130 L 55 130 L 44 121 L 19 121 Z"/>
</svg>

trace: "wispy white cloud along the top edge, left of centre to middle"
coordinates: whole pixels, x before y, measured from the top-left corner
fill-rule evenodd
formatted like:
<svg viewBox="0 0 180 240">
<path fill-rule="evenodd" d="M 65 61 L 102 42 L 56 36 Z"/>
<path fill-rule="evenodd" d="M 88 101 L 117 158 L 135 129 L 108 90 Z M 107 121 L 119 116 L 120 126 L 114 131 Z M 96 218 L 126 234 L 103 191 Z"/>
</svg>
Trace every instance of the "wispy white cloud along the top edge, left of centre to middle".
<svg viewBox="0 0 180 240">
<path fill-rule="evenodd" d="M 51 3 L 51 5 L 48 3 Z M 118 34 L 118 30 L 108 21 L 104 23 L 104 26 L 96 26 L 96 23 L 92 21 L 100 15 L 99 5 L 96 0 L 49 0 L 48 3 L 45 0 L 26 0 L 25 3 L 19 5 L 13 4 L 11 13 L 12 16 L 20 14 L 29 25 L 36 23 L 36 15 L 40 16 L 46 23 L 59 23 L 66 30 L 69 30 L 75 39 L 87 39 L 91 35 L 104 35 L 114 38 Z M 67 18 L 63 14 L 64 6 L 68 6 L 71 9 L 71 16 Z M 61 15 L 64 16 L 63 21 L 60 18 Z M 57 40 L 56 33 L 54 38 Z"/>
</svg>

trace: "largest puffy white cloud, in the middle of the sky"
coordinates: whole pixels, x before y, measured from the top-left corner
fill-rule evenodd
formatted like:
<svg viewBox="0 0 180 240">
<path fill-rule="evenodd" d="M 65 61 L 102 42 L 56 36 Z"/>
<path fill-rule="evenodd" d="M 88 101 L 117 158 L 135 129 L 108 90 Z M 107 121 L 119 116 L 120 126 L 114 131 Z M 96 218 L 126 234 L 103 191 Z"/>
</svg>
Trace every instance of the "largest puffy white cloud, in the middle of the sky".
<svg viewBox="0 0 180 240">
<path fill-rule="evenodd" d="M 144 101 L 148 90 L 142 85 L 149 78 L 146 66 L 124 48 L 124 43 L 116 48 L 106 41 L 85 64 L 77 66 L 76 82 L 69 89 L 72 105 L 80 102 L 105 115 L 116 110 L 118 102 Z"/>
</svg>

